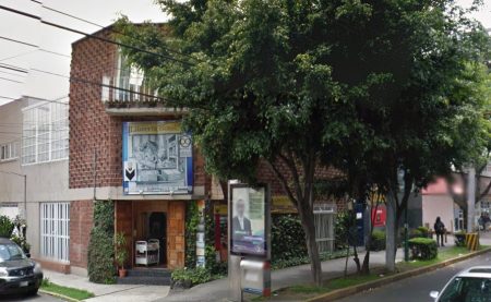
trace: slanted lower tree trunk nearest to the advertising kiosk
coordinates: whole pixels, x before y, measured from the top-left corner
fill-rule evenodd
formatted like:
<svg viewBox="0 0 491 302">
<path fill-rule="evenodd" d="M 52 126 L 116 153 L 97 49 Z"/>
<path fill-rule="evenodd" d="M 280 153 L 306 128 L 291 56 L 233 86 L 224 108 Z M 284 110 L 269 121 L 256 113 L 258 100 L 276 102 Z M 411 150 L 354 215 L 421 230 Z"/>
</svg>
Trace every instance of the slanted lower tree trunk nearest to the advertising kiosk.
<svg viewBox="0 0 491 302">
<path fill-rule="evenodd" d="M 302 220 L 303 231 L 306 232 L 307 250 L 310 257 L 310 267 L 312 278 L 315 285 L 322 286 L 322 266 L 319 254 L 318 242 L 315 241 L 315 224 L 312 210 L 303 210 L 300 218 Z"/>
</svg>

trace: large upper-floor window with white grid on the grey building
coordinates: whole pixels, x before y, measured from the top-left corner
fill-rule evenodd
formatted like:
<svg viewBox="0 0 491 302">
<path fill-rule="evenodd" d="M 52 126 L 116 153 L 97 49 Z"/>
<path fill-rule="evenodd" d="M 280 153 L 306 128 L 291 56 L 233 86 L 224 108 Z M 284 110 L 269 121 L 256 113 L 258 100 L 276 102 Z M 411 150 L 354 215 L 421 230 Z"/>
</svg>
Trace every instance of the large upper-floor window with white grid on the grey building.
<svg viewBox="0 0 491 302">
<path fill-rule="evenodd" d="M 22 164 L 67 159 L 68 105 L 41 102 L 23 110 Z"/>
</svg>

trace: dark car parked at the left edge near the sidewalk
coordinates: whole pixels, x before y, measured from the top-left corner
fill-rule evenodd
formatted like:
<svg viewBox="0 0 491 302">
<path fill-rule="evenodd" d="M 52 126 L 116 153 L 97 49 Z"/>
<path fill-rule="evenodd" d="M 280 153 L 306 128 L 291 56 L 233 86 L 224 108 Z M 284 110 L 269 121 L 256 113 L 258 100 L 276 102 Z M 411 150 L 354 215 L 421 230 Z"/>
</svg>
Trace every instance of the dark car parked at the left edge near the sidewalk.
<svg viewBox="0 0 491 302">
<path fill-rule="evenodd" d="M 0 238 L 0 294 L 36 294 L 43 282 L 38 263 L 9 239 Z"/>
</svg>

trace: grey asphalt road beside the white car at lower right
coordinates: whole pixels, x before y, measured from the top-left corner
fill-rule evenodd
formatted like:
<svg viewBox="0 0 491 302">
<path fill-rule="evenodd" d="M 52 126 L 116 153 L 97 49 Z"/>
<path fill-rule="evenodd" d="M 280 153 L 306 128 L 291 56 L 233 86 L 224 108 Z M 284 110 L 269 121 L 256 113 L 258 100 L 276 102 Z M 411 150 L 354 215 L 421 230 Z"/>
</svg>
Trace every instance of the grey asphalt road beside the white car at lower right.
<svg viewBox="0 0 491 302">
<path fill-rule="evenodd" d="M 476 265 L 491 265 L 491 253 L 460 262 L 424 275 L 390 283 L 382 288 L 364 291 L 340 302 L 424 302 L 433 301 L 430 291 L 441 291 L 445 283 L 459 270 Z"/>
</svg>

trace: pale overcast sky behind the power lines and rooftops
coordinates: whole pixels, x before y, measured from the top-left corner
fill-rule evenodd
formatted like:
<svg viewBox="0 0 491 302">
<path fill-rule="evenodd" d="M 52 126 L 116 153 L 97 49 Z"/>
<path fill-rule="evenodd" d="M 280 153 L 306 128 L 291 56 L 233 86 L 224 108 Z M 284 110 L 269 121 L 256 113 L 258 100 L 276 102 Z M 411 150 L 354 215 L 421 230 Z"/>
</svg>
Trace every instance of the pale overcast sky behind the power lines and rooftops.
<svg viewBox="0 0 491 302">
<path fill-rule="evenodd" d="M 48 8 L 76 15 L 103 26 L 111 24 L 119 14 L 128 15 L 132 22 L 147 20 L 163 22 L 167 19 L 153 0 L 41 0 L 41 2 Z M 458 0 L 457 2 L 462 5 L 469 5 L 472 0 Z M 86 33 L 99 29 L 97 26 L 48 11 L 29 0 L 0 0 L 0 4 L 39 15 L 44 20 Z M 491 0 L 484 0 L 484 7 L 474 16 L 486 27 L 491 28 Z M 14 38 L 38 45 L 40 49 L 70 56 L 71 44 L 83 36 L 0 10 L 0 37 Z M 0 39 L 0 63 L 31 70 L 28 74 L 23 74 L 0 69 L 0 96 L 2 97 L 17 98 L 27 95 L 55 99 L 68 95 L 68 78 L 43 74 L 33 71 L 33 69 L 68 76 L 70 74 L 70 58 Z M 8 99 L 0 98 L 0 105 L 8 101 Z"/>
</svg>

